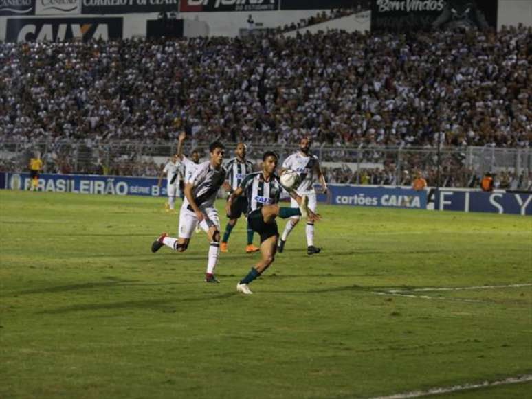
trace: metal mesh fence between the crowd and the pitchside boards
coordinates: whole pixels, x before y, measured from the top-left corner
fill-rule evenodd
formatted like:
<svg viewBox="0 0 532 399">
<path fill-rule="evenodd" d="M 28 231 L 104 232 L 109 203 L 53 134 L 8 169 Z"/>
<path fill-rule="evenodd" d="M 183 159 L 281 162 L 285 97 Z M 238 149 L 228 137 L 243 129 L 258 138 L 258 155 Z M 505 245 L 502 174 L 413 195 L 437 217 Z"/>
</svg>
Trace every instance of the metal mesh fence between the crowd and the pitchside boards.
<svg viewBox="0 0 532 399">
<path fill-rule="evenodd" d="M 226 146 L 226 157 L 233 157 L 236 144 Z M 193 149 L 199 150 L 203 158 L 208 156 L 208 143 L 187 142 L 184 153 L 189 154 Z M 38 152 L 45 172 L 157 176 L 161 164 L 166 163 L 175 150 L 175 143 L 0 141 L 0 170 L 27 170 L 30 157 Z M 250 144 L 247 157 L 259 164 L 266 150 L 278 152 L 282 161 L 298 150 L 298 146 Z M 429 185 L 437 183 L 436 148 L 317 146 L 312 150 L 320 158 L 327 179 L 335 183 L 409 185 L 417 172 L 425 176 Z M 529 190 L 532 183 L 532 154 L 528 148 L 445 147 L 441 148 L 440 166 L 439 184 L 443 187 L 478 187 L 486 172 L 495 174 L 501 188 Z"/>
</svg>

